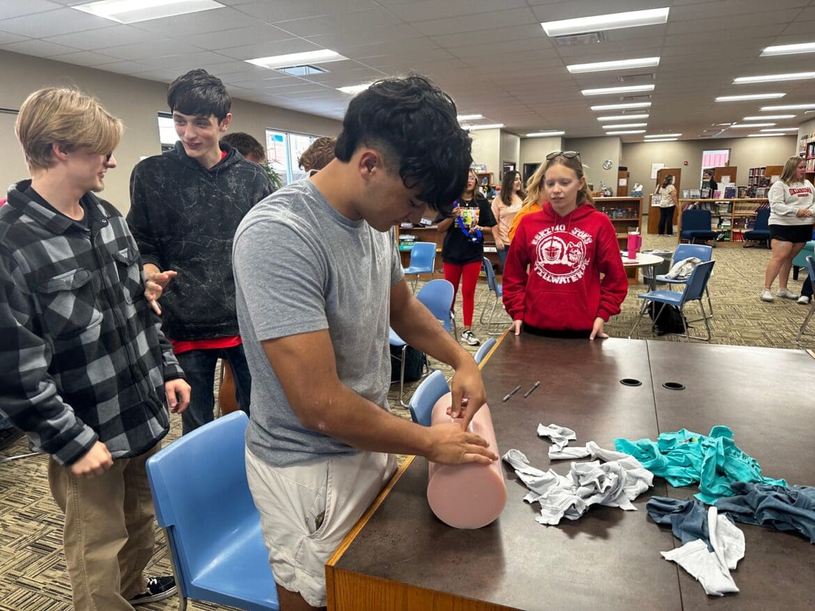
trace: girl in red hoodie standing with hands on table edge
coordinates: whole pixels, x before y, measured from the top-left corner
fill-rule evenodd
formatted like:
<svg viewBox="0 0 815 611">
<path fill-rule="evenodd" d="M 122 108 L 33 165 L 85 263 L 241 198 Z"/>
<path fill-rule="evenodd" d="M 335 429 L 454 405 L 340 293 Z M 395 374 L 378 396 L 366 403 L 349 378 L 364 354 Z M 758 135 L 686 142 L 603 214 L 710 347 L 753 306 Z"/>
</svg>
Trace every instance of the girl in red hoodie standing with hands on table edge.
<svg viewBox="0 0 815 611">
<path fill-rule="evenodd" d="M 548 201 L 521 219 L 504 268 L 513 331 L 608 337 L 603 327 L 628 294 L 615 228 L 593 206 L 578 152 L 549 153 L 542 176 Z"/>
</svg>

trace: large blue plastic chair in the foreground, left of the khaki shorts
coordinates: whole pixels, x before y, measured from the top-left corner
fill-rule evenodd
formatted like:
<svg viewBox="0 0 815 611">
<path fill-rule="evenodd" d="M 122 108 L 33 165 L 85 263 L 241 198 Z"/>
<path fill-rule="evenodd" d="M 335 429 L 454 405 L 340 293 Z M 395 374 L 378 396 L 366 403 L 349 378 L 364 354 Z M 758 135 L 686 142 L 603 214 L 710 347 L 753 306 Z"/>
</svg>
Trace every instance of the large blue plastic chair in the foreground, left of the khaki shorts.
<svg viewBox="0 0 815 611">
<path fill-rule="evenodd" d="M 147 462 L 181 599 L 247 611 L 280 609 L 260 514 L 246 481 L 245 412 L 184 435 Z"/>
</svg>

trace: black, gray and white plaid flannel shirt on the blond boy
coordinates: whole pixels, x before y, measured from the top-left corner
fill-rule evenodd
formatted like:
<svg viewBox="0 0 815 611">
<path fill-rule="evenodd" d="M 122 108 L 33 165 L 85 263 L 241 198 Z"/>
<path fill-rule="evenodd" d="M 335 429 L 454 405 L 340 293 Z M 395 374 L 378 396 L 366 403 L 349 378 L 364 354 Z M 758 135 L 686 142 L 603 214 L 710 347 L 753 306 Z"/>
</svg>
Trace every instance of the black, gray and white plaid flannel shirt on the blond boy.
<svg viewBox="0 0 815 611">
<path fill-rule="evenodd" d="M 170 428 L 165 380 L 184 377 L 144 298 L 125 219 L 92 193 L 87 225 L 11 187 L 0 208 L 0 412 L 73 464 L 99 440 L 113 458 Z"/>
</svg>

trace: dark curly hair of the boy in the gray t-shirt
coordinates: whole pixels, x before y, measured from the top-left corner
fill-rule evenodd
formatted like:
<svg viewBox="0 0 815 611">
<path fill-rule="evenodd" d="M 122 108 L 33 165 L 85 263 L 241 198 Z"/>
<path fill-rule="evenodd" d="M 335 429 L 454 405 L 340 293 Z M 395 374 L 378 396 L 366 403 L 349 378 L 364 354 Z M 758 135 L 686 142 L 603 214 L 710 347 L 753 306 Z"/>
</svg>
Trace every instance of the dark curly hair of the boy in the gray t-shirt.
<svg viewBox="0 0 815 611">
<path fill-rule="evenodd" d="M 337 159 L 349 161 L 359 147 L 377 149 L 405 187 L 419 188 L 419 200 L 452 214 L 452 202 L 467 184 L 472 142 L 456 119 L 456 103 L 428 79 L 387 78 L 352 99 Z"/>
</svg>

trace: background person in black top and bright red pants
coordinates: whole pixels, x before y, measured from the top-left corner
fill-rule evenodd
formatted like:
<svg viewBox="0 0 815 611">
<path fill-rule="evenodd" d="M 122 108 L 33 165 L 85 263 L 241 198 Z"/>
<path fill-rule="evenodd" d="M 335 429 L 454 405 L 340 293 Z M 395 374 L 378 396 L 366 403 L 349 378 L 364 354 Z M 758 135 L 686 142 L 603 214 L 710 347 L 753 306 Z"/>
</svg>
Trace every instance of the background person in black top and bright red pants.
<svg viewBox="0 0 815 611">
<path fill-rule="evenodd" d="M 442 262 L 444 279 L 456 289 L 450 310 L 456 304 L 456 292 L 461 283 L 461 314 L 464 317 L 464 331 L 461 341 L 468 345 L 478 345 L 481 340 L 473 334 L 473 312 L 475 310 L 475 287 L 484 257 L 484 231 L 492 231 L 496 221 L 487 198 L 478 188 L 478 176 L 469 171 L 467 187 L 456 200 L 453 217 L 436 219 L 438 231 L 444 233 Z M 493 235 L 496 235 L 497 230 Z"/>
</svg>

